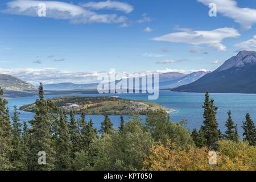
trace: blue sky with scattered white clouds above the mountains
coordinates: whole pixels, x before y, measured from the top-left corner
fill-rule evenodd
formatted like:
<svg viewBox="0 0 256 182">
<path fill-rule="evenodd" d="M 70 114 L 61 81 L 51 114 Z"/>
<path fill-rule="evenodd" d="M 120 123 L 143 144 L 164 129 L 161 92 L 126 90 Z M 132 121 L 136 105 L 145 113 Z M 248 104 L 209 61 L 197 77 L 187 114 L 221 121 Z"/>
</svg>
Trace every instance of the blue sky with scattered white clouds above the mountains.
<svg viewBox="0 0 256 182">
<path fill-rule="evenodd" d="M 110 69 L 214 71 L 256 51 L 255 30 L 251 0 L 1 0 L 0 73 L 38 85 L 92 83 Z"/>
</svg>

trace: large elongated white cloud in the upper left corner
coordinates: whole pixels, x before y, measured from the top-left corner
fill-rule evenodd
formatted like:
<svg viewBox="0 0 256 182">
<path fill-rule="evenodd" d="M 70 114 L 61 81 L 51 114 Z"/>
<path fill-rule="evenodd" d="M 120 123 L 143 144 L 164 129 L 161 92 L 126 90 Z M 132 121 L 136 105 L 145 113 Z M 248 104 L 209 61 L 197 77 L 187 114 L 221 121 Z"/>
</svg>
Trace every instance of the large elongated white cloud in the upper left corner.
<svg viewBox="0 0 256 182">
<path fill-rule="evenodd" d="M 7 9 L 2 13 L 38 16 L 38 4 L 46 5 L 46 17 L 54 19 L 68 19 L 71 23 L 121 23 L 127 19 L 125 16 L 116 14 L 97 14 L 86 10 L 84 7 L 71 3 L 58 1 L 34 1 L 34 0 L 15 0 L 7 3 Z"/>
</svg>

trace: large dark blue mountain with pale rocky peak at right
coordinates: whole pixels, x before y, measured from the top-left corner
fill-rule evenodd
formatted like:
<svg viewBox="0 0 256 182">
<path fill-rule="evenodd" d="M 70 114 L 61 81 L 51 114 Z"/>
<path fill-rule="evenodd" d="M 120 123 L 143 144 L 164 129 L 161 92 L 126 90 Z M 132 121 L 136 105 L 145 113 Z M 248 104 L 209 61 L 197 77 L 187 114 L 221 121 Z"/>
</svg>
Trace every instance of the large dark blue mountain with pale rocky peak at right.
<svg viewBox="0 0 256 182">
<path fill-rule="evenodd" d="M 188 85 L 172 89 L 176 92 L 256 93 L 256 52 L 240 51 L 214 72 Z"/>
</svg>

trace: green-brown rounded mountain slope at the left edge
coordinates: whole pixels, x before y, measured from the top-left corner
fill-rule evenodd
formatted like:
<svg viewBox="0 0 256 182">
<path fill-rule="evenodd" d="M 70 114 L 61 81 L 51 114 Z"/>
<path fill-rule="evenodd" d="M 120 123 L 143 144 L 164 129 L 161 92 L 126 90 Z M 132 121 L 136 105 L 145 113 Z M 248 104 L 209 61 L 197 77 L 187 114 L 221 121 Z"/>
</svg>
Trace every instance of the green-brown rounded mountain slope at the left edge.
<svg viewBox="0 0 256 182">
<path fill-rule="evenodd" d="M 11 75 L 0 74 L 0 87 L 5 91 L 31 92 L 38 90 L 35 86 L 26 81 L 22 81 Z"/>
</svg>

